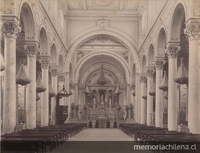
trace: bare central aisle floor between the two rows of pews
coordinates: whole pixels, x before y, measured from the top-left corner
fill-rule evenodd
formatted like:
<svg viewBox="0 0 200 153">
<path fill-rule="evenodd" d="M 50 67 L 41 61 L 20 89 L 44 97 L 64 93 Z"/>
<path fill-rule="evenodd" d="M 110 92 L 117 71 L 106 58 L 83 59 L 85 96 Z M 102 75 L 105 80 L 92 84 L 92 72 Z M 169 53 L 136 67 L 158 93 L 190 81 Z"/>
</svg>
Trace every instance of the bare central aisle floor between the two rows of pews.
<svg viewBox="0 0 200 153">
<path fill-rule="evenodd" d="M 86 129 L 68 139 L 52 153 L 150 153 L 133 150 L 133 138 L 119 129 Z"/>
</svg>

